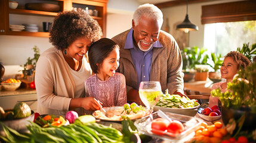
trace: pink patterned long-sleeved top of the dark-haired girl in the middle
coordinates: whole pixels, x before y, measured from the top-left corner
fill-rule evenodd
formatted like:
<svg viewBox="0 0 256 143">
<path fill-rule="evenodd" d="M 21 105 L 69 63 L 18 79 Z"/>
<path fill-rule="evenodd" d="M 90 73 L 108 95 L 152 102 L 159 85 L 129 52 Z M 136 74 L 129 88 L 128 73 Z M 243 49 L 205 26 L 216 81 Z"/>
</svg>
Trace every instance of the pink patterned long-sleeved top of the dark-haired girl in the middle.
<svg viewBox="0 0 256 143">
<path fill-rule="evenodd" d="M 85 97 L 94 97 L 103 107 L 122 106 L 127 103 L 125 76 L 115 73 L 108 80 L 101 81 L 96 74 L 85 81 Z"/>
</svg>

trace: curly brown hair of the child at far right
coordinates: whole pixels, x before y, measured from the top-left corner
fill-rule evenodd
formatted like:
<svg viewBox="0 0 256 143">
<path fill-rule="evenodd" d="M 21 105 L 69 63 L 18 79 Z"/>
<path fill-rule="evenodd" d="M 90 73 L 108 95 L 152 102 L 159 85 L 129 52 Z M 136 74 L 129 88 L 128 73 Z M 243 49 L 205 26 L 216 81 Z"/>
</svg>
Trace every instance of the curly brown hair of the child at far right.
<svg viewBox="0 0 256 143">
<path fill-rule="evenodd" d="M 238 51 L 232 51 L 227 53 L 226 57 L 232 57 L 233 60 L 238 63 L 238 69 L 240 69 L 240 67 L 242 66 L 243 69 L 246 69 L 247 66 L 249 66 L 251 64 L 251 61 L 245 57 L 245 55 L 241 54 Z"/>
</svg>

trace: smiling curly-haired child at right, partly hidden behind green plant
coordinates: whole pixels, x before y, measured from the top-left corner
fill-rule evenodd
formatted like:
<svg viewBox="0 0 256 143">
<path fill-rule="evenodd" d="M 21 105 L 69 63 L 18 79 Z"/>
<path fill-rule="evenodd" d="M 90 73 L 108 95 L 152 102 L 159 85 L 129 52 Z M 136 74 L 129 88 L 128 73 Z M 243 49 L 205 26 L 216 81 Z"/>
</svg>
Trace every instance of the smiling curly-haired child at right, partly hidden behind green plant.
<svg viewBox="0 0 256 143">
<path fill-rule="evenodd" d="M 225 56 L 220 68 L 221 78 L 226 79 L 226 82 L 214 83 L 214 85 L 212 85 L 212 90 L 220 88 L 221 92 L 226 92 L 227 83 L 233 80 L 233 77 L 238 73 L 240 67 L 246 68 L 249 64 L 251 64 L 251 61 L 249 61 L 245 55 L 240 54 L 240 52 L 237 51 L 229 52 Z M 212 97 L 211 95 L 209 98 L 209 107 L 214 105 L 220 106 L 220 101 L 218 100 L 218 97 Z"/>
</svg>

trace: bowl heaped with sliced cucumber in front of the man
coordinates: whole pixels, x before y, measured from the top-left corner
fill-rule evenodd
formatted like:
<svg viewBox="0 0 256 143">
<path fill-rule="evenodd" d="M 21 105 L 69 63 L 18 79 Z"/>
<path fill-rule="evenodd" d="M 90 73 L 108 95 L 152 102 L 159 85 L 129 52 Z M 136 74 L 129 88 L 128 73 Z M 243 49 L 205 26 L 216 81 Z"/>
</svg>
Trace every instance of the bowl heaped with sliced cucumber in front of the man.
<svg viewBox="0 0 256 143">
<path fill-rule="evenodd" d="M 162 110 L 186 116 L 195 116 L 199 106 L 200 104 L 197 100 L 190 100 L 186 97 L 180 97 L 180 95 L 170 95 L 167 93 L 161 95 L 154 107 L 154 111 Z"/>
</svg>

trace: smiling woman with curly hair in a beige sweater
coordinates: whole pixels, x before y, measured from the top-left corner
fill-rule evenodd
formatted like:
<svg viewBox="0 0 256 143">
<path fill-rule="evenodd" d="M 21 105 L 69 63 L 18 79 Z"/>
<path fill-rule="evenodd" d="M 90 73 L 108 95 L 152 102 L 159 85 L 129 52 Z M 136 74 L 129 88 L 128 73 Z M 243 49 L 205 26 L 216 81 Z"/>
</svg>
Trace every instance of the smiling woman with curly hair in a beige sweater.
<svg viewBox="0 0 256 143">
<path fill-rule="evenodd" d="M 98 110 L 101 102 L 85 97 L 84 81 L 91 76 L 87 51 L 102 36 L 97 21 L 78 11 L 58 13 L 50 30 L 54 47 L 44 51 L 36 64 L 38 113 L 64 115 L 75 110 Z"/>
</svg>

